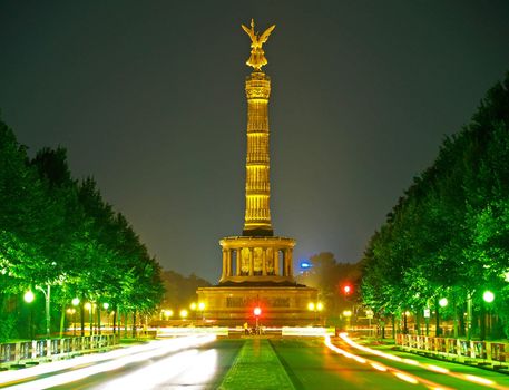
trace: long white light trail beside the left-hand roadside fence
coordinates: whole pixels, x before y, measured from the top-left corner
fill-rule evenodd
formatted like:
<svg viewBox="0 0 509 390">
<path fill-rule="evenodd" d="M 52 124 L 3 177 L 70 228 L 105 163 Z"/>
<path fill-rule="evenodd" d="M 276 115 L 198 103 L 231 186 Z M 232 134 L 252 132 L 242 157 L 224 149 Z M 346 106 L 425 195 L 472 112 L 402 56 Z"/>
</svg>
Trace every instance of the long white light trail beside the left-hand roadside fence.
<svg viewBox="0 0 509 390">
<path fill-rule="evenodd" d="M 159 355 L 163 355 L 168 352 L 182 350 L 185 348 L 190 348 L 190 347 L 196 347 L 200 345 L 207 342 L 212 342 L 216 339 L 215 335 L 203 335 L 203 337 L 188 337 L 188 338 L 178 338 L 178 339 L 172 339 L 172 340 L 165 340 L 165 341 L 158 341 L 154 343 L 149 343 L 146 345 L 136 345 L 136 348 L 127 348 L 125 350 L 121 350 L 123 354 L 118 353 L 111 353 L 108 357 L 105 355 L 90 355 L 87 358 L 96 358 L 89 359 L 88 363 L 94 365 L 85 367 L 85 368 L 78 368 L 74 371 L 70 372 L 63 372 L 63 373 L 56 373 L 52 377 L 48 378 L 42 378 L 42 379 L 37 379 L 33 381 L 20 383 L 20 384 L 14 384 L 10 387 L 9 389 L 11 390 L 32 390 L 32 389 L 47 389 L 56 386 L 61 386 L 66 384 L 69 382 L 74 382 L 77 380 L 81 380 L 91 376 L 95 376 L 97 373 L 101 372 L 107 372 L 107 371 L 114 371 L 117 370 L 126 364 L 139 362 L 139 361 L 145 361 L 148 359 L 157 358 Z M 150 347 L 150 348 L 148 348 Z M 119 351 L 112 351 L 112 352 L 119 352 Z M 106 353 L 108 354 L 108 353 Z M 105 361 L 108 360 L 108 361 Z M 68 362 L 66 362 L 68 363 Z M 76 365 L 81 365 L 82 362 L 75 362 L 74 365 L 69 367 L 68 364 L 65 364 L 63 369 L 69 369 Z M 53 370 L 48 370 L 46 372 L 56 372 L 59 370 L 62 370 L 62 367 L 58 364 L 57 362 L 48 364 L 48 365 L 53 365 Z M 55 367 L 57 365 L 57 367 Z M 40 371 L 40 370 L 39 370 Z M 8 372 L 10 373 L 10 372 Z M 33 378 L 37 374 L 40 374 L 40 372 L 35 372 L 31 369 L 26 369 L 22 371 L 13 371 L 12 373 L 18 373 L 16 376 L 16 379 L 12 379 L 14 376 L 10 376 L 10 380 L 22 380 L 22 379 L 29 379 Z M 7 383 L 8 381 L 3 378 L 3 376 L 0 376 L 2 379 L 2 383 Z"/>
</svg>

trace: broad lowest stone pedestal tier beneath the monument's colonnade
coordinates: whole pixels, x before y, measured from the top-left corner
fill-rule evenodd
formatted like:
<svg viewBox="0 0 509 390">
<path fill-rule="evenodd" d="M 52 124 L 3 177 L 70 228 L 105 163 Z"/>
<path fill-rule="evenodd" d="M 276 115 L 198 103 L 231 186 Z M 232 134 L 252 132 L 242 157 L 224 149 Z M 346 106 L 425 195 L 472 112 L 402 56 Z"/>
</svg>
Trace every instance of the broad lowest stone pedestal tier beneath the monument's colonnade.
<svg viewBox="0 0 509 390">
<path fill-rule="evenodd" d="M 235 285 L 202 287 L 198 301 L 205 303 L 203 316 L 208 323 L 222 326 L 255 326 L 253 313 L 262 309 L 258 324 L 264 326 L 306 326 L 320 324 L 320 313 L 307 309 L 316 303 L 317 290 L 303 285 Z"/>
</svg>

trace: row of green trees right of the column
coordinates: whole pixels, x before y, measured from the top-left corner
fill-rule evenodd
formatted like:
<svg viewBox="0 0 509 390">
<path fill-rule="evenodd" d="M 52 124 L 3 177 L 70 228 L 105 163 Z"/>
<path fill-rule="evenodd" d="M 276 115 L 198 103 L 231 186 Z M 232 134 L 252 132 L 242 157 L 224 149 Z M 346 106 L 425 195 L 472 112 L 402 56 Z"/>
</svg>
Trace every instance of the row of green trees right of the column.
<svg viewBox="0 0 509 390">
<path fill-rule="evenodd" d="M 484 310 L 509 337 L 509 74 L 371 237 L 363 273 L 363 301 L 382 315 L 419 315 L 448 298 L 459 334 L 472 305 L 481 337 Z"/>
</svg>

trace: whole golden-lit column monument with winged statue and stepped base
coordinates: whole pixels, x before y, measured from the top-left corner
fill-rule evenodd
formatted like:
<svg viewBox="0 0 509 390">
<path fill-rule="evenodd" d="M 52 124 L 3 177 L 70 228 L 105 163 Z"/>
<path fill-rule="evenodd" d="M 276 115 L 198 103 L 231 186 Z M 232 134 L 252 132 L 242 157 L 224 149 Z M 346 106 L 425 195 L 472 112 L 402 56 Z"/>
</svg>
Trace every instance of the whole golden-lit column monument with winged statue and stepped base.
<svg viewBox="0 0 509 390">
<path fill-rule="evenodd" d="M 242 325 L 255 306 L 263 306 L 265 324 L 310 324 L 315 314 L 307 310 L 316 302 L 316 289 L 297 284 L 293 277 L 295 240 L 274 236 L 271 222 L 268 148 L 268 98 L 271 79 L 261 71 L 266 65 L 262 45 L 275 26 L 252 39 L 247 65 L 254 71 L 245 82 L 247 98 L 247 152 L 245 217 L 242 236 L 219 241 L 223 272 L 218 285 L 198 289 L 205 304 L 204 318 L 216 324 Z"/>
</svg>

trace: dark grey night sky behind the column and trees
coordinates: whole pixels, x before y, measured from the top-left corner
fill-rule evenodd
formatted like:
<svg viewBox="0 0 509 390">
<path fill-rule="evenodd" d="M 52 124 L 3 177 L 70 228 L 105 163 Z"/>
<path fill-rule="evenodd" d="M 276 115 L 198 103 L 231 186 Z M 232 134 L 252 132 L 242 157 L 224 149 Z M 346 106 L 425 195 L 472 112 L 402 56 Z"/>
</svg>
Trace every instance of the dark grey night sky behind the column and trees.
<svg viewBox="0 0 509 390">
<path fill-rule="evenodd" d="M 1 1 L 0 108 L 65 146 L 165 269 L 215 283 L 242 233 L 249 39 L 272 77 L 271 208 L 296 261 L 355 262 L 509 70 L 509 2 Z"/>
</svg>

